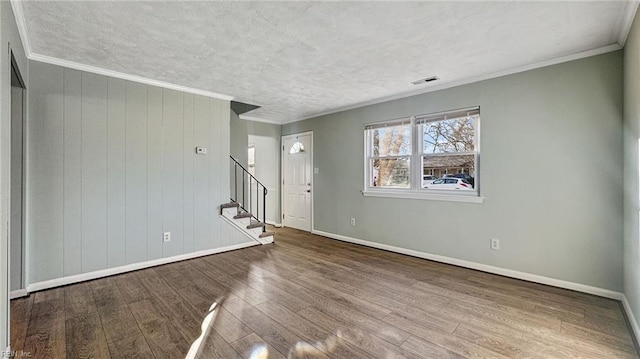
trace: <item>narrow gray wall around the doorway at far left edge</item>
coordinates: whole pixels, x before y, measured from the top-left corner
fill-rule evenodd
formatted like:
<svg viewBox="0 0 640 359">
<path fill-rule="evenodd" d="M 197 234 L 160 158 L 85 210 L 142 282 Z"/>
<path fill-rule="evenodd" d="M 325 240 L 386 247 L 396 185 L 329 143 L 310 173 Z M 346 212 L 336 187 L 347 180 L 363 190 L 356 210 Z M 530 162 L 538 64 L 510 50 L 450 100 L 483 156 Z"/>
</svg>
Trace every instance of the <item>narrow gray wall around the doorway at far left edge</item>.
<svg viewBox="0 0 640 359">
<path fill-rule="evenodd" d="M 0 233 L 7 233 L 9 183 L 11 181 L 11 60 L 13 54 L 22 78 L 29 80 L 29 68 L 9 1 L 0 1 Z M 9 343 L 8 238 L 0 236 L 0 350 Z"/>
</svg>

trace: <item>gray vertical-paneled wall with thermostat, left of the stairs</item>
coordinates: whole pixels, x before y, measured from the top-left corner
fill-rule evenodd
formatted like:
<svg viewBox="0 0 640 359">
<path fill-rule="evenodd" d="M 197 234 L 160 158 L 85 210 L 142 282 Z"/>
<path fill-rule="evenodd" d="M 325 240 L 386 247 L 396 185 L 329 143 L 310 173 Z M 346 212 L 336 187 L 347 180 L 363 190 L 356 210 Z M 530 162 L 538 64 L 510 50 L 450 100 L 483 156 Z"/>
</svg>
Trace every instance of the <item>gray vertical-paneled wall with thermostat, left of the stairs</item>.
<svg viewBox="0 0 640 359">
<path fill-rule="evenodd" d="M 229 197 L 228 101 L 30 70 L 28 283 L 248 241 L 217 210 Z"/>
</svg>

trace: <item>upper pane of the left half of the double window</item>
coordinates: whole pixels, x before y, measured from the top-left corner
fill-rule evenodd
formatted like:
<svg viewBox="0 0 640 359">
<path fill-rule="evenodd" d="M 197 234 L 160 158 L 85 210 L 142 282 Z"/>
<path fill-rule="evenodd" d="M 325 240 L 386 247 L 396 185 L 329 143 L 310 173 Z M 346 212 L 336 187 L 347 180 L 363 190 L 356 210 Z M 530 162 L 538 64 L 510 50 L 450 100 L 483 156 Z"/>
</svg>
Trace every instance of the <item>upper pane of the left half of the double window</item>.
<svg viewBox="0 0 640 359">
<path fill-rule="evenodd" d="M 411 155 L 411 125 L 381 127 L 371 131 L 374 157 Z"/>
</svg>

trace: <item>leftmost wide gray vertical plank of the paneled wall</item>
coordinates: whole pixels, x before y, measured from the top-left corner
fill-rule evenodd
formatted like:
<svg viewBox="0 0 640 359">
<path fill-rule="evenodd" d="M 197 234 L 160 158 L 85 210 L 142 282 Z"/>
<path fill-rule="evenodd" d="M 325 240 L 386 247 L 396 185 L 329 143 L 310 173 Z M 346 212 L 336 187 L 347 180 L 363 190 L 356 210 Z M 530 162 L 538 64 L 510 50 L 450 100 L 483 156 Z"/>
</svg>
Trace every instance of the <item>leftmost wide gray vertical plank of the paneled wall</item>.
<svg viewBox="0 0 640 359">
<path fill-rule="evenodd" d="M 63 276 L 63 69 L 33 66 L 29 88 L 27 284 Z M 34 240 L 40 239 L 40 240 Z"/>
</svg>

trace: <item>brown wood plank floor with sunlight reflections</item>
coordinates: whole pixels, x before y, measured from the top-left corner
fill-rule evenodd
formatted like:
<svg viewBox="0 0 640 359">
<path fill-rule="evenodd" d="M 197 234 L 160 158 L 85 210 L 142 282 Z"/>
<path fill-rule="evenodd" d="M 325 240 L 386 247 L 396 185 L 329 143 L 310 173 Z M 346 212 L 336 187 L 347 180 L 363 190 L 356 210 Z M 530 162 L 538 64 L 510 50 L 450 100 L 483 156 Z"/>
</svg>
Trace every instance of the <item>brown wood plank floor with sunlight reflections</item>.
<svg viewBox="0 0 640 359">
<path fill-rule="evenodd" d="M 638 358 L 617 301 L 292 229 L 14 300 L 11 346 L 31 358 Z"/>
</svg>

